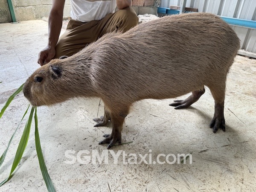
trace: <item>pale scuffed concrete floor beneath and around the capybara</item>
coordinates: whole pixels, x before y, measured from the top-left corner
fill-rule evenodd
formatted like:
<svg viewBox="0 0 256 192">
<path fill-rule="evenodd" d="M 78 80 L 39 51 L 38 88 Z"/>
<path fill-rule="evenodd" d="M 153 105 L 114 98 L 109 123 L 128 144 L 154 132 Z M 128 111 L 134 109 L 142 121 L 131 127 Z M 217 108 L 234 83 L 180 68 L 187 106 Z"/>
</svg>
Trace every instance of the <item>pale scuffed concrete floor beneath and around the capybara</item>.
<svg viewBox="0 0 256 192">
<path fill-rule="evenodd" d="M 39 67 L 38 52 L 47 44 L 47 23 L 42 20 L 0 24 L 0 108 L 8 97 Z M 53 107 L 38 108 L 44 159 L 57 191 L 256 191 L 256 60 L 237 56 L 227 79 L 226 132 L 209 128 L 214 101 L 209 92 L 190 108 L 174 110 L 173 99 L 137 102 L 127 116 L 122 142 L 113 147 L 126 154 L 192 153 L 192 164 L 67 164 L 67 150 L 106 149 L 98 145 L 108 127 L 94 128 L 93 118 L 103 115 L 100 99 L 72 99 Z M 181 96 L 180 98 L 186 98 Z M 6 148 L 27 100 L 19 94 L 0 119 L 0 154 Z M 0 181 L 11 169 L 24 121 L 3 166 Z M 0 191 L 47 191 L 35 150 L 34 126 L 12 179 Z"/>
</svg>

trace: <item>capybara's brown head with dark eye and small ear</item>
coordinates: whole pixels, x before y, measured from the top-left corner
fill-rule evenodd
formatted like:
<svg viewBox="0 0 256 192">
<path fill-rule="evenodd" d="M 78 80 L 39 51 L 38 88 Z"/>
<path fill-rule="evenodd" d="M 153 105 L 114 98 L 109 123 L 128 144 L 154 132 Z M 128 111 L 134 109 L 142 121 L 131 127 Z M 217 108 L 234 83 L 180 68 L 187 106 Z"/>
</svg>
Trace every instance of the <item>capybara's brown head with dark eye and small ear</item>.
<svg viewBox="0 0 256 192">
<path fill-rule="evenodd" d="M 32 105 L 53 105 L 84 95 L 89 84 L 86 71 L 81 68 L 84 65 L 73 62 L 67 64 L 65 60 L 68 59 L 53 59 L 27 79 L 23 93 Z"/>
</svg>

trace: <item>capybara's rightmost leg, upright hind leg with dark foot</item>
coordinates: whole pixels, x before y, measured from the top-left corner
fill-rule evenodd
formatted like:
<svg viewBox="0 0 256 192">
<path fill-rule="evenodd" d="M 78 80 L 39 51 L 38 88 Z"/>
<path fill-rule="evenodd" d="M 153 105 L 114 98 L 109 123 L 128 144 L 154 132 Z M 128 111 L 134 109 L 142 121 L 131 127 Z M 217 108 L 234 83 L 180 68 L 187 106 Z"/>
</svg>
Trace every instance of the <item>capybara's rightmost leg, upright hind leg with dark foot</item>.
<svg viewBox="0 0 256 192">
<path fill-rule="evenodd" d="M 216 133 L 218 128 L 226 131 L 224 119 L 225 85 L 223 87 L 215 86 L 209 88 L 215 101 L 214 116 L 210 123 L 210 128 L 212 128 L 213 133 Z"/>
</svg>

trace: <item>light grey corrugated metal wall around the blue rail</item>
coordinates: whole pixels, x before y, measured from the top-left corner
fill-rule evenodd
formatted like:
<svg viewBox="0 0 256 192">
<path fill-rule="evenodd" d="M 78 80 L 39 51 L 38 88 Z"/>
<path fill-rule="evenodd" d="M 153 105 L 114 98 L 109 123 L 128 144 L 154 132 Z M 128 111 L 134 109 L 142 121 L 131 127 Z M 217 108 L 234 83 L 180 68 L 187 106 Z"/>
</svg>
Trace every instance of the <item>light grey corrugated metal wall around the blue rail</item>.
<svg viewBox="0 0 256 192">
<path fill-rule="evenodd" d="M 161 0 L 160 7 L 180 6 L 181 0 Z M 256 0 L 187 0 L 186 7 L 225 17 L 256 20 Z M 241 40 L 241 49 L 256 53 L 256 29 L 232 26 Z"/>
</svg>

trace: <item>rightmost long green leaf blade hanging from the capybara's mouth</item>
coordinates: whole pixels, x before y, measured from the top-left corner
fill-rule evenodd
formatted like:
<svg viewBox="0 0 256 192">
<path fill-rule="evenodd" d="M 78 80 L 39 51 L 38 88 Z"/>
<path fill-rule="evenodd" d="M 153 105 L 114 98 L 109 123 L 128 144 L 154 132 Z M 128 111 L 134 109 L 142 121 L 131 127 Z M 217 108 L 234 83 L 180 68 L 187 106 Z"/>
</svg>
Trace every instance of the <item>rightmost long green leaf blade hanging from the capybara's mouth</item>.
<svg viewBox="0 0 256 192">
<path fill-rule="evenodd" d="M 38 161 L 39 161 L 40 169 L 41 169 L 42 175 L 44 177 L 44 181 L 46 183 L 48 191 L 55 192 L 55 188 L 53 186 L 52 180 L 47 172 L 47 167 L 44 163 L 44 157 L 43 157 L 39 133 L 38 133 L 38 118 L 37 118 L 36 112 L 37 112 L 37 110 L 35 108 L 35 148 L 36 148 L 36 152 L 38 155 Z"/>
</svg>

